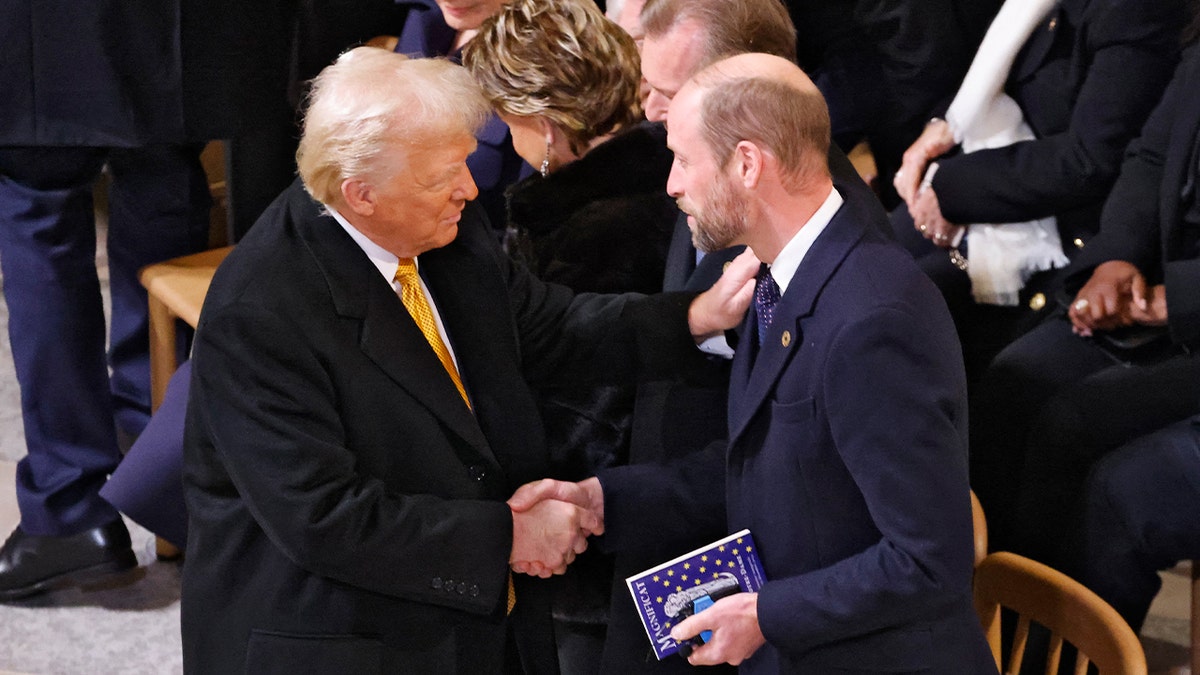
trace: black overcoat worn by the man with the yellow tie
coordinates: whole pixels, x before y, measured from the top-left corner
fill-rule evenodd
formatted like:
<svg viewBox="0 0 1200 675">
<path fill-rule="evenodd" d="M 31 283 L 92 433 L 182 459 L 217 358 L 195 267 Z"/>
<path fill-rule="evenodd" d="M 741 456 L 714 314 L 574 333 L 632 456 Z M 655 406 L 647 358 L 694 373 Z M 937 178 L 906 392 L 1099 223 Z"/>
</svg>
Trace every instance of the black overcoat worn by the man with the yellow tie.
<svg viewBox="0 0 1200 675">
<path fill-rule="evenodd" d="M 217 270 L 185 431 L 188 671 L 500 671 L 504 500 L 550 471 L 526 382 L 594 352 L 635 306 L 674 327 L 652 345 L 691 345 L 683 298 L 541 283 L 474 205 L 420 270 L 472 410 L 299 181 Z M 551 634 L 544 591 L 518 575 L 518 640 Z M 540 664 L 553 663 L 551 650 Z"/>
</svg>

